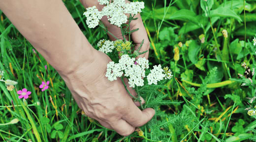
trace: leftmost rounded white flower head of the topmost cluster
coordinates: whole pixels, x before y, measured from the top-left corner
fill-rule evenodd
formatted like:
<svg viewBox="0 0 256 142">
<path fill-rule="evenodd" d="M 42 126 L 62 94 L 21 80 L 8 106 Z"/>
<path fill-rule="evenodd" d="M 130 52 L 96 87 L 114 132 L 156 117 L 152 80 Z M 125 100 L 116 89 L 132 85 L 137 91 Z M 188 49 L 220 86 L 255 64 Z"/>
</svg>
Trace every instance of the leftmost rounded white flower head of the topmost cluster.
<svg viewBox="0 0 256 142">
<path fill-rule="evenodd" d="M 99 20 L 102 18 L 102 14 L 96 6 L 86 8 L 86 12 L 84 12 L 84 15 L 86 16 L 86 24 L 89 28 L 95 28 L 98 26 Z"/>
</svg>

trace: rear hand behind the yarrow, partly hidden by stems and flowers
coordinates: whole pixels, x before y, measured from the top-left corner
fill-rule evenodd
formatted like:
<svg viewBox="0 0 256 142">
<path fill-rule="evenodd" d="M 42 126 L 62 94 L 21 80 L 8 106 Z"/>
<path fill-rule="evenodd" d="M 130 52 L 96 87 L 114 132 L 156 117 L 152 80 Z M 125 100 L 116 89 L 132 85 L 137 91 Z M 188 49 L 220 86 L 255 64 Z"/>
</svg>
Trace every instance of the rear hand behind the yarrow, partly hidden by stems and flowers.
<svg viewBox="0 0 256 142">
<path fill-rule="evenodd" d="M 96 6 L 99 10 L 101 10 L 104 7 L 104 5 L 100 5 L 97 0 L 80 0 L 80 1 L 85 6 L 85 8 Z M 126 0 L 126 2 L 128 3 L 129 1 Z M 127 16 L 129 17 L 129 14 L 127 14 Z M 133 40 L 133 43 L 135 44 L 135 49 L 137 49 L 140 46 L 142 40 L 144 40 L 144 43 L 140 49 L 140 52 L 148 51 L 150 48 L 150 42 L 149 42 L 149 38 L 148 38 L 148 34 L 146 32 L 146 29 L 143 25 L 141 16 L 140 16 L 140 14 L 137 14 L 134 16 L 134 18 L 138 18 L 138 19 L 131 21 L 130 30 L 139 28 L 138 31 L 131 33 L 131 39 Z M 115 25 L 110 24 L 108 22 L 106 16 L 103 16 L 101 21 L 107 27 L 108 31 L 111 32 L 115 37 L 117 37 L 118 39 L 123 39 L 121 29 Z M 113 40 L 113 41 L 116 40 L 116 38 L 113 37 L 112 35 L 110 35 L 109 33 L 108 33 L 108 35 L 109 35 L 110 40 Z M 126 35 L 125 38 L 128 39 L 128 35 Z M 149 56 L 149 52 L 142 54 L 138 57 L 148 58 L 148 56 Z"/>
</svg>

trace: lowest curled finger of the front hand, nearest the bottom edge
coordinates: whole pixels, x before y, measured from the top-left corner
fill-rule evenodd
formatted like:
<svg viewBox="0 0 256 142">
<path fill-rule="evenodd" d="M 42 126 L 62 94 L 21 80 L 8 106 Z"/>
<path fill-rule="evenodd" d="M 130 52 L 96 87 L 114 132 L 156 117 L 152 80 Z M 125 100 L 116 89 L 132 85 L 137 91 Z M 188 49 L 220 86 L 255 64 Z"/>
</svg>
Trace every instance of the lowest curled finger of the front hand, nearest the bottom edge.
<svg viewBox="0 0 256 142">
<path fill-rule="evenodd" d="M 109 124 L 118 134 L 122 136 L 129 136 L 135 130 L 135 127 L 131 126 L 123 119 L 119 119 L 115 122 L 109 122 Z"/>
</svg>

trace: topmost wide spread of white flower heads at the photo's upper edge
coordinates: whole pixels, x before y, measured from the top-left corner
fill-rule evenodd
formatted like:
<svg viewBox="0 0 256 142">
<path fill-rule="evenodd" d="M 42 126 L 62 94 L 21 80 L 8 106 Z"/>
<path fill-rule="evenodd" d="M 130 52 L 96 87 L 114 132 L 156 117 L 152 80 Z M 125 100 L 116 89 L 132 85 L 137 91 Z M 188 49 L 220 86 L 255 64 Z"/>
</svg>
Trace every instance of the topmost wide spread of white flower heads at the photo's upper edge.
<svg viewBox="0 0 256 142">
<path fill-rule="evenodd" d="M 121 27 L 122 24 L 128 21 L 127 14 L 137 14 L 144 8 L 144 2 L 130 2 L 126 3 L 125 0 L 98 0 L 100 4 L 106 4 L 102 11 L 98 11 L 96 6 L 87 8 L 84 15 L 87 17 L 86 23 L 89 28 L 95 28 L 99 20 L 103 16 L 107 16 L 110 24 Z"/>
</svg>

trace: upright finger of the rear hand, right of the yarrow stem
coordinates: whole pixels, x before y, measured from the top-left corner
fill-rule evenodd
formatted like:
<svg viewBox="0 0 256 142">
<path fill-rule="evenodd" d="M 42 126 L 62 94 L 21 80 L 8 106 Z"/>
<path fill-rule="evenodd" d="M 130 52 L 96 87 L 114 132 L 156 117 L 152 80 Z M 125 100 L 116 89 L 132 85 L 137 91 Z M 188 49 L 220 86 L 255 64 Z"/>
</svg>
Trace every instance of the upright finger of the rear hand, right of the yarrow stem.
<svg viewBox="0 0 256 142">
<path fill-rule="evenodd" d="M 135 50 L 138 49 L 138 47 L 140 46 L 141 42 L 144 40 L 144 44 L 142 45 L 142 47 L 141 47 L 139 52 L 148 51 L 149 47 L 150 47 L 150 42 L 149 42 L 147 31 L 146 31 L 146 29 L 145 29 L 145 27 L 143 25 L 142 19 L 140 17 L 140 14 L 137 14 L 135 16 L 135 18 L 138 18 L 138 19 L 135 20 L 135 21 L 132 21 L 131 25 L 130 25 L 131 26 L 131 30 L 139 28 L 138 31 L 135 31 L 135 32 L 131 33 L 131 39 L 135 43 Z M 148 56 L 149 56 L 149 51 L 146 52 L 145 54 L 140 55 L 139 57 L 148 58 Z"/>
</svg>

